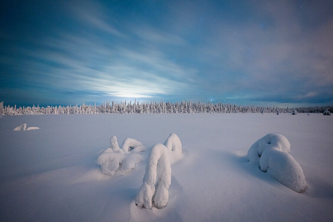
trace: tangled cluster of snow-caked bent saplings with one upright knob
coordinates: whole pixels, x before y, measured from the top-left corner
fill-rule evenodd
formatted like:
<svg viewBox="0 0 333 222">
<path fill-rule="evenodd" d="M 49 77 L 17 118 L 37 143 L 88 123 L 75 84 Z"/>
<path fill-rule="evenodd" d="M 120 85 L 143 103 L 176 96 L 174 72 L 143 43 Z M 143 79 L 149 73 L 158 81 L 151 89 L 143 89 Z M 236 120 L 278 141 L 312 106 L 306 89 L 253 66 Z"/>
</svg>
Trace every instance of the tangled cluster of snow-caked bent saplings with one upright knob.
<svg viewBox="0 0 333 222">
<path fill-rule="evenodd" d="M 140 145 L 132 149 L 131 152 L 128 151 L 129 147 L 132 147 L 133 144 L 139 143 Z M 139 152 L 145 151 L 146 146 L 132 138 L 126 138 L 123 142 L 123 145 L 124 144 L 124 147 L 126 147 L 125 150 L 128 151 L 126 154 L 123 149 L 120 149 L 117 142 L 117 137 L 112 136 L 110 138 L 111 146 L 105 149 L 97 158 L 97 163 L 102 167 L 102 173 L 112 176 L 119 168 L 121 172 L 127 172 L 133 169 L 136 164 L 143 160 L 143 157 L 139 154 Z"/>
</svg>

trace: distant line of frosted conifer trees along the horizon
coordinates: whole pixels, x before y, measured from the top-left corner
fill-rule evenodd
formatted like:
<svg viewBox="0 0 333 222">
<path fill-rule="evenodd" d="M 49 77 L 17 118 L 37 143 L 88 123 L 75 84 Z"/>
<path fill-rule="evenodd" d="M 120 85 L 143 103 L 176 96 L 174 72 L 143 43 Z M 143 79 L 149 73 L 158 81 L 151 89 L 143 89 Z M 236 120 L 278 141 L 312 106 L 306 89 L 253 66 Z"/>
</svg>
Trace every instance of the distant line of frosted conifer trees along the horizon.
<svg viewBox="0 0 333 222">
<path fill-rule="evenodd" d="M 323 113 L 325 109 L 333 112 L 333 106 L 315 106 L 315 107 L 298 107 L 295 110 L 298 113 Z M 85 104 L 78 106 L 28 106 L 4 107 L 3 102 L 0 103 L 0 115 L 39 115 L 39 114 L 100 114 L 100 113 L 291 113 L 294 108 L 278 108 L 278 107 L 262 107 L 254 105 L 238 106 L 230 103 L 201 103 L 192 101 L 181 102 L 150 102 L 139 103 L 130 101 L 126 102 L 104 102 L 96 105 Z"/>
</svg>

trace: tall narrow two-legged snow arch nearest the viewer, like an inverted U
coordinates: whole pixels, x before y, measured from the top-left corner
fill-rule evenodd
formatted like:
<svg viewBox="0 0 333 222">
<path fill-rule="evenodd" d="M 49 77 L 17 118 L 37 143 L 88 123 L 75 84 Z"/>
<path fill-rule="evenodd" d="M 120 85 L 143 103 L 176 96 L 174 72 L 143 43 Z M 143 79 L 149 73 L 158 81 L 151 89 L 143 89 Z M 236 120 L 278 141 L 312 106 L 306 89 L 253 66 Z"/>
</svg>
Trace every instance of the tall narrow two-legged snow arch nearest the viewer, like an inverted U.
<svg viewBox="0 0 333 222">
<path fill-rule="evenodd" d="M 171 166 L 168 156 L 168 148 L 161 144 L 155 144 L 149 154 L 143 184 L 135 198 L 135 204 L 139 207 L 152 209 L 152 202 L 156 208 L 164 208 L 167 204 L 171 184 Z"/>
</svg>

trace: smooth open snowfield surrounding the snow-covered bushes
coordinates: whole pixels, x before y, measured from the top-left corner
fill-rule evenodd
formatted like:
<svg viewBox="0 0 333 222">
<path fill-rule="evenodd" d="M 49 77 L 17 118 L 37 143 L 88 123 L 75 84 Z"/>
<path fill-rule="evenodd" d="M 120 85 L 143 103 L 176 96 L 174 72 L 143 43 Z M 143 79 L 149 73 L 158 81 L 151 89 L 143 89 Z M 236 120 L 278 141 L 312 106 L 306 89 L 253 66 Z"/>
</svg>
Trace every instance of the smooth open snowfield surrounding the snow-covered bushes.
<svg viewBox="0 0 333 222">
<path fill-rule="evenodd" d="M 332 221 L 333 117 L 322 114 L 111 114 L 2 116 L 0 221 Z M 40 129 L 13 131 L 23 123 Z M 168 204 L 135 206 L 147 156 L 170 133 L 183 159 L 171 165 Z M 290 142 L 309 185 L 296 193 L 246 162 L 267 133 Z M 127 173 L 101 172 L 117 136 L 148 150 Z"/>
</svg>

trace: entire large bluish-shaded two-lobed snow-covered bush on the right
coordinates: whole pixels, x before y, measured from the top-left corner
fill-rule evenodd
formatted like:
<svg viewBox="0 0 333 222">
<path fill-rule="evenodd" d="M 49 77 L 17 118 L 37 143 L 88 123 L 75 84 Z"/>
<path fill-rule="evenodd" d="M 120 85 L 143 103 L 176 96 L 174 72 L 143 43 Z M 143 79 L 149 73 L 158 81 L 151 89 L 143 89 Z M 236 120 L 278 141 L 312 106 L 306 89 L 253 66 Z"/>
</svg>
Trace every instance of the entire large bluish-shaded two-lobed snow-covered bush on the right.
<svg viewBox="0 0 333 222">
<path fill-rule="evenodd" d="M 246 157 L 248 161 L 259 164 L 261 171 L 279 183 L 302 193 L 307 188 L 303 170 L 288 152 L 290 143 L 287 138 L 270 133 L 253 143 Z"/>
</svg>

